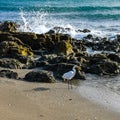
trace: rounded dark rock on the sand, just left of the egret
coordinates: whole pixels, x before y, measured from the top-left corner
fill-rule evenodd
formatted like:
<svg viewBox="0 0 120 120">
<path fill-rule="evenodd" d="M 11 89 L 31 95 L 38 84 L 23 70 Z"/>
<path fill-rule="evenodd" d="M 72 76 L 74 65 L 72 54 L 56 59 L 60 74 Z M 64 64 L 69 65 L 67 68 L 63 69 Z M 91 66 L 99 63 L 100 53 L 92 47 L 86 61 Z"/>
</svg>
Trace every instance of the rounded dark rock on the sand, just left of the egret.
<svg viewBox="0 0 120 120">
<path fill-rule="evenodd" d="M 25 75 L 24 79 L 29 82 L 46 82 L 46 83 L 55 82 L 53 73 L 45 70 L 29 72 Z"/>
</svg>

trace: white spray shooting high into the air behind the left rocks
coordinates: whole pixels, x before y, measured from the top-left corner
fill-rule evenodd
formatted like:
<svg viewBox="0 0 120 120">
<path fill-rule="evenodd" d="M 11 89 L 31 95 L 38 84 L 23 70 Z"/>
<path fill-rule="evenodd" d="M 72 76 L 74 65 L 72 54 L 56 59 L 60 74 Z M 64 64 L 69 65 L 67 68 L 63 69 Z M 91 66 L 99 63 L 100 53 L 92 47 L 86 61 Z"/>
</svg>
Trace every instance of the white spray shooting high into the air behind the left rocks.
<svg viewBox="0 0 120 120">
<path fill-rule="evenodd" d="M 19 29 L 23 32 L 45 33 L 49 30 L 46 21 L 47 17 L 48 14 L 43 11 L 28 13 L 21 10 L 20 18 L 22 23 Z"/>
</svg>

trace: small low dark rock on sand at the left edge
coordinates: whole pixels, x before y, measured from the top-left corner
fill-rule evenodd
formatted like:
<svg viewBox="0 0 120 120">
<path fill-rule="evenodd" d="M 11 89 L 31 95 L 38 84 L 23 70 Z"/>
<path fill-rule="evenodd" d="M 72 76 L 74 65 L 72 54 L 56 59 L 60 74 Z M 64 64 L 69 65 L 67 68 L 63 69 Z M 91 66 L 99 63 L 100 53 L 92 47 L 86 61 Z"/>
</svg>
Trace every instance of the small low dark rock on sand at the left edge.
<svg viewBox="0 0 120 120">
<path fill-rule="evenodd" d="M 0 70 L 0 77 L 7 77 L 11 79 L 18 79 L 18 74 L 10 70 Z"/>
</svg>

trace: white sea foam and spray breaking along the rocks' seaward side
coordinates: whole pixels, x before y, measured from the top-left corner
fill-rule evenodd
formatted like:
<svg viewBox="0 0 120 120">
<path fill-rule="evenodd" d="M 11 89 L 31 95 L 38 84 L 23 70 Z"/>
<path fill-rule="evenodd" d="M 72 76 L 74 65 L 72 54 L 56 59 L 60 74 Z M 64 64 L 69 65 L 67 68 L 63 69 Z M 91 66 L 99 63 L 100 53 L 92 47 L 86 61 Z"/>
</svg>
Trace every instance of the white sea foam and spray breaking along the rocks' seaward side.
<svg viewBox="0 0 120 120">
<path fill-rule="evenodd" d="M 69 34 L 73 38 L 77 38 L 81 40 L 83 37 L 87 36 L 88 34 L 92 34 L 93 36 L 100 36 L 105 37 L 108 36 L 110 40 L 115 39 L 115 35 L 119 34 L 119 32 L 114 32 L 108 23 L 98 24 L 97 22 L 89 22 L 89 21 L 68 21 L 62 18 L 56 18 L 54 15 L 43 11 L 32 11 L 32 12 L 25 12 L 24 10 L 20 10 L 20 19 L 21 19 L 21 26 L 19 30 L 23 32 L 34 32 L 34 33 L 46 33 L 50 29 L 54 27 L 61 27 L 64 31 L 59 31 L 63 34 Z M 77 23 L 78 22 L 78 23 Z M 110 23 L 112 24 L 112 23 Z M 68 29 L 66 29 L 68 28 Z M 109 29 L 109 30 L 106 30 Z M 78 30 L 89 29 L 91 32 L 83 33 L 78 32 Z M 114 32 L 114 33 L 113 33 Z"/>
</svg>

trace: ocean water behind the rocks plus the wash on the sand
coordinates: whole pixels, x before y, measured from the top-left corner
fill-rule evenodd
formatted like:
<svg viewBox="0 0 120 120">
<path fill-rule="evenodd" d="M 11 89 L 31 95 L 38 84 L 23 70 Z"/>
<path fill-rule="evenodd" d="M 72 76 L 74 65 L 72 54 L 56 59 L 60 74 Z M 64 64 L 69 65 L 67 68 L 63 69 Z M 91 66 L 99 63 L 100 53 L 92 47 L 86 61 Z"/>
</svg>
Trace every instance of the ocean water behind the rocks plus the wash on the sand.
<svg viewBox="0 0 120 120">
<path fill-rule="evenodd" d="M 54 27 L 81 39 L 78 29 L 90 29 L 91 34 L 120 34 L 120 0 L 0 0 L 0 21 L 14 21 L 24 32 L 45 33 Z M 120 76 L 98 78 L 88 76 L 80 94 L 107 108 L 120 111 Z"/>
</svg>

